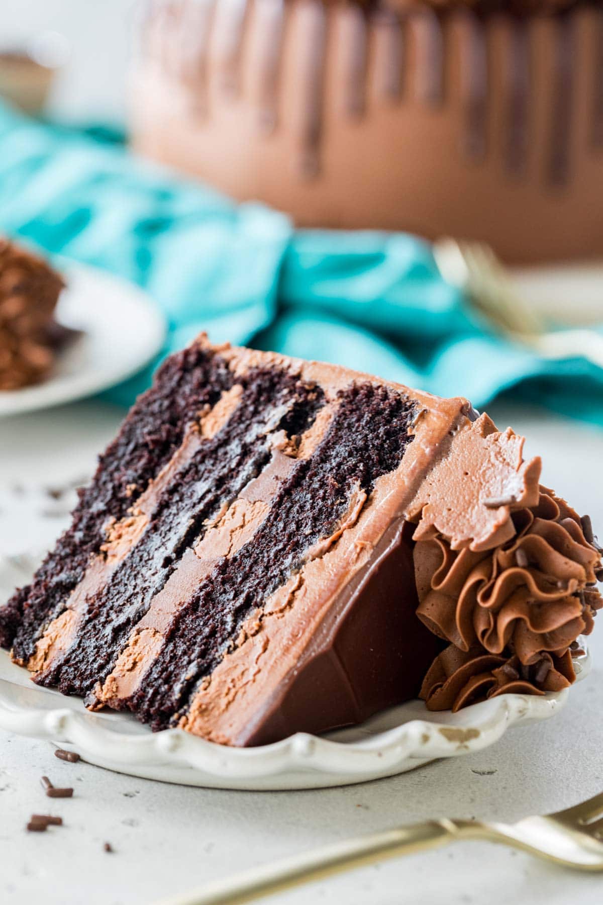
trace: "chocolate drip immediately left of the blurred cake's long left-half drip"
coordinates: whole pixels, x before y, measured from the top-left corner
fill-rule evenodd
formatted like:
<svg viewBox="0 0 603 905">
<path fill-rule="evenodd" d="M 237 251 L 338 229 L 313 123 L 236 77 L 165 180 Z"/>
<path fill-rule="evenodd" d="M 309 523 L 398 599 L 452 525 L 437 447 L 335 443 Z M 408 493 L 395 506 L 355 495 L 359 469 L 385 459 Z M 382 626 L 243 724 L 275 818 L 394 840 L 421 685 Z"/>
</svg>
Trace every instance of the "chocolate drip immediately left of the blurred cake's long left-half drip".
<svg viewBox="0 0 603 905">
<path fill-rule="evenodd" d="M 258 0 L 254 7 L 259 68 L 259 116 L 262 132 L 275 129 L 278 120 L 278 72 L 283 42 L 283 0 Z"/>
</svg>

